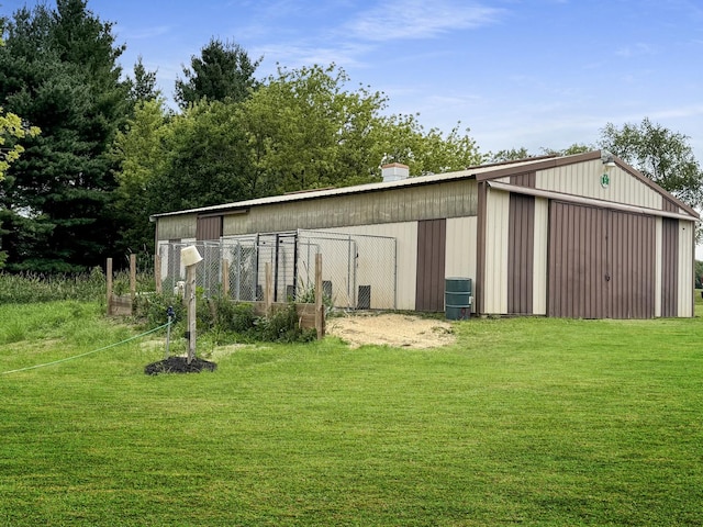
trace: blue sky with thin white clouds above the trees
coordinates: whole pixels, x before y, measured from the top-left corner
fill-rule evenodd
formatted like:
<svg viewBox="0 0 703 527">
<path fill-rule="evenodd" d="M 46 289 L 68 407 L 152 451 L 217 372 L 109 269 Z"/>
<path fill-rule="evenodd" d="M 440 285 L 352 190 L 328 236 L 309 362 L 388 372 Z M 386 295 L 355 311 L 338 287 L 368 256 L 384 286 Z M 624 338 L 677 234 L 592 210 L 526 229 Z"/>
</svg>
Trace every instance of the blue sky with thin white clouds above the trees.
<svg viewBox="0 0 703 527">
<path fill-rule="evenodd" d="M 0 0 L 10 14 L 36 0 Z M 54 5 L 53 1 L 48 2 Z M 700 0 L 88 0 L 115 23 L 131 71 L 142 55 L 170 99 L 212 36 L 258 77 L 335 63 L 390 113 L 445 132 L 460 121 L 481 152 L 594 143 L 606 123 L 648 116 L 690 136 L 703 162 Z"/>
</svg>

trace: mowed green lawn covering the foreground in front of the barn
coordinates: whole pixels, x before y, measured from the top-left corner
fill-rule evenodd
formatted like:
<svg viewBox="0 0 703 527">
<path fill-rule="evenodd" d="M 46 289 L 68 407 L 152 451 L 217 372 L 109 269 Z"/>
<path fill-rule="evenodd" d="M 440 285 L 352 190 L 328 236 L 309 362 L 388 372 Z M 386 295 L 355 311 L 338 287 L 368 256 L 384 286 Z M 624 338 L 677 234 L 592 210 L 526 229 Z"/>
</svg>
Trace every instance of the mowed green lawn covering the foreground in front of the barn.
<svg viewBox="0 0 703 527">
<path fill-rule="evenodd" d="M 0 319 L 0 371 L 134 334 L 91 304 Z M 701 318 L 455 332 L 159 377 L 163 348 L 130 343 L 1 374 L 0 525 L 703 524 Z"/>
</svg>

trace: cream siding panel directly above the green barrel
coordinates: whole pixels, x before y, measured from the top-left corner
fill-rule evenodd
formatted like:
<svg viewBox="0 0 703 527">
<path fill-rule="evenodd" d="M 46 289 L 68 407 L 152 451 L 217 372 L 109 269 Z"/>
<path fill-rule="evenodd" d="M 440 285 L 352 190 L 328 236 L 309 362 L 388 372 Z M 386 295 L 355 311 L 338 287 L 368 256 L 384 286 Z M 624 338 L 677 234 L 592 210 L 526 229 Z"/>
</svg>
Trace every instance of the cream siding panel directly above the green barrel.
<svg viewBox="0 0 703 527">
<path fill-rule="evenodd" d="M 454 217 L 447 220 L 447 250 L 445 278 L 470 278 L 476 287 L 478 217 Z M 476 291 L 472 293 L 476 296 Z M 476 310 L 476 302 L 472 310 Z"/>
</svg>

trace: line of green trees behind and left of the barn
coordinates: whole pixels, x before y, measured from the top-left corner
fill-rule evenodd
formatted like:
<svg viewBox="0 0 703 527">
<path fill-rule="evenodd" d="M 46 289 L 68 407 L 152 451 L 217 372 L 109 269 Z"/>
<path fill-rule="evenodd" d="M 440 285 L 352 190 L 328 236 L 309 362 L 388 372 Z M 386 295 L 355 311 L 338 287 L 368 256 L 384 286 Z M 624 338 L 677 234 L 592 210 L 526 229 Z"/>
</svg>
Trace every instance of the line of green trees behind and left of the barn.
<svg viewBox="0 0 703 527">
<path fill-rule="evenodd" d="M 459 123 L 444 133 L 389 115 L 386 94 L 352 87 L 336 65 L 258 79 L 261 58 L 219 38 L 190 57 L 174 111 L 141 58 L 124 75 L 125 46 L 87 0 L 23 8 L 0 24 L 0 267 L 10 271 L 76 272 L 152 253 L 155 213 L 378 181 L 384 162 L 419 176 L 532 155 L 481 154 Z M 645 119 L 607 124 L 598 146 L 701 204 L 685 136 Z"/>
</svg>

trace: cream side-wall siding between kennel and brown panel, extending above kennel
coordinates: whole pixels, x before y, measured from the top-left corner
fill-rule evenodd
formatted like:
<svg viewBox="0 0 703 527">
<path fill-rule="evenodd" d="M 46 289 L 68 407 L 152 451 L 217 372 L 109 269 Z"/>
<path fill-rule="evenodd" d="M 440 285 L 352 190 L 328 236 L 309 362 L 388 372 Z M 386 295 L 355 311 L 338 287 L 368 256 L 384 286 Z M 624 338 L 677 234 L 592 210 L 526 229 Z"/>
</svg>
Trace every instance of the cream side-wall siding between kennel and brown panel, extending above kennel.
<svg viewBox="0 0 703 527">
<path fill-rule="evenodd" d="M 386 223 L 382 225 L 357 225 L 325 229 L 344 234 L 362 234 L 367 236 L 388 236 L 395 238 L 395 295 L 397 309 L 412 311 L 415 309 L 415 277 L 417 274 L 417 222 Z M 324 268 L 324 262 L 323 262 Z M 386 277 L 379 274 L 379 279 Z M 371 289 L 381 289 L 380 284 Z M 375 309 L 375 296 L 371 295 L 371 307 Z"/>
</svg>

